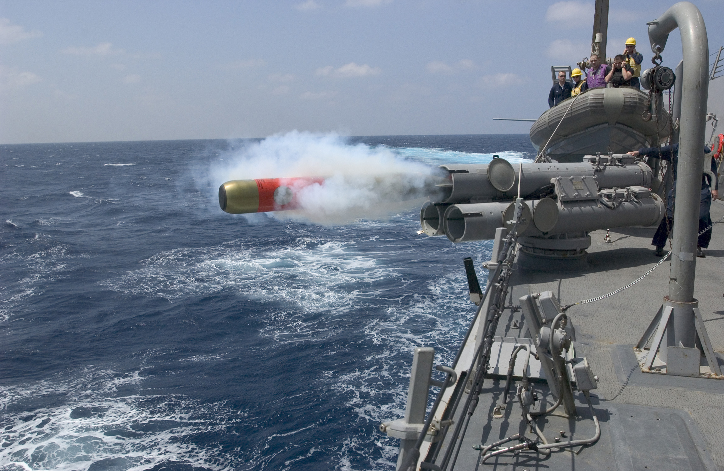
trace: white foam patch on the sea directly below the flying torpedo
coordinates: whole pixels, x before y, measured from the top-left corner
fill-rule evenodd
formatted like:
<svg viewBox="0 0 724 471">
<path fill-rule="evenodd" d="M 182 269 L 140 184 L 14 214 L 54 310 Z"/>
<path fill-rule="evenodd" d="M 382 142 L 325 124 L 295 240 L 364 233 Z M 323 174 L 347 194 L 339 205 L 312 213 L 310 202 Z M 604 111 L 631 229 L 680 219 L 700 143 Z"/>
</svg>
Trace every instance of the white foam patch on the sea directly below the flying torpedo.
<svg viewBox="0 0 724 471">
<path fill-rule="evenodd" d="M 212 246 L 175 249 L 151 256 L 143 267 L 104 280 L 101 285 L 127 295 L 159 296 L 169 301 L 233 290 L 267 305 L 261 334 L 278 342 L 321 340 L 331 320 L 380 294 L 369 286 L 400 277 L 400 268 L 378 264 L 379 253 L 356 251 L 353 242 L 300 237 L 277 248 Z M 324 319 L 310 314 L 324 312 Z"/>
</svg>

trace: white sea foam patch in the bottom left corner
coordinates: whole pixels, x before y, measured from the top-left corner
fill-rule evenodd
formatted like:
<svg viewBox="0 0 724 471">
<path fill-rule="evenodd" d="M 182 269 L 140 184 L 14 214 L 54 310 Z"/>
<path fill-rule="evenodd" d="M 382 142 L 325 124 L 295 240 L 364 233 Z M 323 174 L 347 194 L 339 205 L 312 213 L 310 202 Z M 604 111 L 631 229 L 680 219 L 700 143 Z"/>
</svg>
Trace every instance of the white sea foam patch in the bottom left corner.
<svg viewBox="0 0 724 471">
<path fill-rule="evenodd" d="M 119 388 L 139 382 L 140 373 L 85 371 L 74 379 L 63 376 L 9 386 L 0 392 L 4 415 L 0 463 L 70 471 L 113 459 L 127 471 L 148 470 L 168 461 L 232 469 L 232 457 L 219 449 L 200 448 L 179 437 L 222 433 L 243 414 L 223 403 L 201 405 L 181 395 L 115 397 Z M 63 405 L 32 412 L 15 405 L 57 396 L 64 397 Z"/>
</svg>

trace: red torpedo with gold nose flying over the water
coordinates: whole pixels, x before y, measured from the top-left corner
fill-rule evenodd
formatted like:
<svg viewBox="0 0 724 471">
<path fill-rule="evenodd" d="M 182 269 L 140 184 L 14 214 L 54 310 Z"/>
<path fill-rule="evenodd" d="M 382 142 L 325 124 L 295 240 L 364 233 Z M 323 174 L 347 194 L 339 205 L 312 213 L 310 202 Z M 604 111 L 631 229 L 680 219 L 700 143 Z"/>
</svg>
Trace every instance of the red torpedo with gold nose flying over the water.
<svg viewBox="0 0 724 471">
<path fill-rule="evenodd" d="M 219 186 L 219 206 L 232 215 L 296 209 L 298 191 L 323 182 L 324 178 L 313 177 L 227 181 Z"/>
</svg>

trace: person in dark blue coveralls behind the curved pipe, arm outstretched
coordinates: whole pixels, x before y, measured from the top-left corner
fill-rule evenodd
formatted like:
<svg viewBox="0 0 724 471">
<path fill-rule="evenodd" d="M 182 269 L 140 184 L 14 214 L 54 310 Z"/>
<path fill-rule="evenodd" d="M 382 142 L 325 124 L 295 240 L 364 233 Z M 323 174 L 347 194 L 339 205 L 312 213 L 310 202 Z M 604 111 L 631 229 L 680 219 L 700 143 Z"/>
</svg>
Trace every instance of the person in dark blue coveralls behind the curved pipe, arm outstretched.
<svg viewBox="0 0 724 471">
<path fill-rule="evenodd" d="M 709 147 L 704 145 L 704 154 L 710 153 Z M 659 228 L 654 234 L 654 238 L 651 241 L 652 246 L 656 246 L 654 255 L 662 256 L 664 254 L 664 246 L 669 236 L 669 230 L 673 223 L 673 212 L 674 212 L 674 196 L 676 194 L 676 168 L 678 164 L 678 144 L 668 145 L 661 148 L 658 147 L 644 147 L 643 149 L 634 150 L 628 152 L 633 156 L 646 155 L 651 158 L 661 158 L 672 163 L 674 183 L 669 190 L 667 195 L 666 204 L 666 217 L 661 221 Z M 714 175 L 717 175 L 717 165 L 714 159 L 712 159 L 711 170 Z M 702 192 L 699 199 L 699 232 L 708 228 L 704 233 L 699 235 L 696 241 L 696 256 L 704 257 L 704 251 L 709 247 L 709 242 L 712 239 L 712 219 L 709 215 L 709 209 L 712 206 L 712 200 L 719 197 L 719 181 L 718 178 L 714 178 L 712 181 L 711 176 L 708 173 L 702 175 Z"/>
</svg>

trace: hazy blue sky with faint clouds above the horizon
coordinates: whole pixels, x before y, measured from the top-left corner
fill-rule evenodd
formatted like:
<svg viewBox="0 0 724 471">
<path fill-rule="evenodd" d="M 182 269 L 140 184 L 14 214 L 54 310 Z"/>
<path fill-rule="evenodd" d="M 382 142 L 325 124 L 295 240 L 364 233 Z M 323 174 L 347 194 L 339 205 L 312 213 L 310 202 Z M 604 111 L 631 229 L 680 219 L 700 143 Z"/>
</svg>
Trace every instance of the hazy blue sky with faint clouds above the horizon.
<svg viewBox="0 0 724 471">
<path fill-rule="evenodd" d="M 527 132 L 593 1 L 8 1 L 0 143 Z M 608 55 L 672 2 L 611 0 Z M 695 2 L 710 52 L 724 0 Z M 681 59 L 678 32 L 665 64 Z"/>
</svg>

